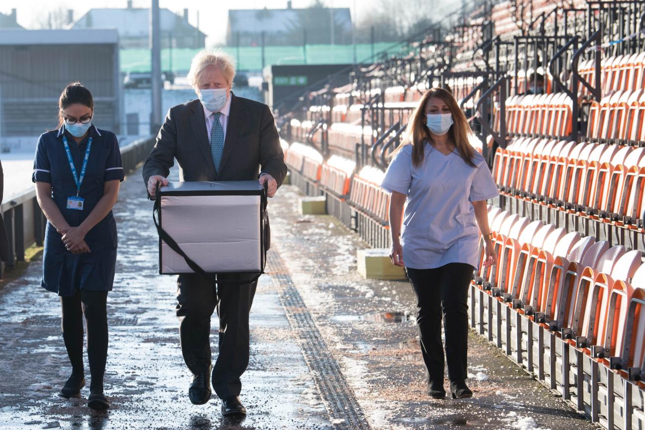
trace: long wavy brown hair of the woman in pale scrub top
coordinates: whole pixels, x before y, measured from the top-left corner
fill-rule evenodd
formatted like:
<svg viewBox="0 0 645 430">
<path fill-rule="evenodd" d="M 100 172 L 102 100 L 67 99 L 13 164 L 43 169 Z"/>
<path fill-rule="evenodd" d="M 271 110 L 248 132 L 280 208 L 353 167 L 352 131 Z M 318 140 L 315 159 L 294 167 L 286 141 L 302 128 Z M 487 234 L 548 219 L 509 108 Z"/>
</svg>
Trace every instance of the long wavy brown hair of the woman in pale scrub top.
<svg viewBox="0 0 645 430">
<path fill-rule="evenodd" d="M 432 142 L 432 137 L 430 135 L 430 130 L 426 125 L 426 112 L 425 107 L 428 103 L 428 99 L 431 97 L 437 97 L 441 99 L 448 108 L 450 108 L 450 113 L 452 113 L 453 124 L 448 130 L 448 140 L 457 146 L 457 151 L 459 155 L 466 162 L 466 164 L 475 167 L 473 163 L 473 157 L 475 156 L 475 148 L 473 148 L 468 141 L 468 136 L 471 135 L 470 125 L 468 125 L 468 120 L 466 120 L 466 115 L 461 111 L 455 97 L 452 94 L 443 88 L 430 88 L 426 91 L 424 95 L 419 100 L 419 104 L 414 108 L 410 119 L 408 119 L 408 125 L 406 126 L 405 137 L 401 141 L 401 144 L 393 152 L 392 155 L 402 150 L 406 145 L 412 145 L 412 164 L 417 167 L 423 161 L 424 151 L 423 144 L 424 142 Z"/>
</svg>

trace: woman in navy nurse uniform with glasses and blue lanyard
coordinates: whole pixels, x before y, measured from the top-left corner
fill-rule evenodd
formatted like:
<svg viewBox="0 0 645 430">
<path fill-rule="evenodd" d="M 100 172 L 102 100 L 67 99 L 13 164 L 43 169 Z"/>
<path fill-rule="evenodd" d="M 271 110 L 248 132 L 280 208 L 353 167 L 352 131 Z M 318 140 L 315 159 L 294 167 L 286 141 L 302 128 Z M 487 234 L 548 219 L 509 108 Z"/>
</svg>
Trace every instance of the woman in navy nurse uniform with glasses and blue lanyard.
<svg viewBox="0 0 645 430">
<path fill-rule="evenodd" d="M 94 100 L 87 88 L 68 85 L 59 110 L 59 128 L 38 139 L 32 177 L 48 219 L 41 284 L 61 298 L 63 340 L 72 365 L 61 395 L 79 396 L 85 385 L 84 315 L 91 376 L 88 406 L 106 409 L 106 301 L 117 257 L 112 206 L 124 172 L 116 136 L 92 124 Z"/>
</svg>

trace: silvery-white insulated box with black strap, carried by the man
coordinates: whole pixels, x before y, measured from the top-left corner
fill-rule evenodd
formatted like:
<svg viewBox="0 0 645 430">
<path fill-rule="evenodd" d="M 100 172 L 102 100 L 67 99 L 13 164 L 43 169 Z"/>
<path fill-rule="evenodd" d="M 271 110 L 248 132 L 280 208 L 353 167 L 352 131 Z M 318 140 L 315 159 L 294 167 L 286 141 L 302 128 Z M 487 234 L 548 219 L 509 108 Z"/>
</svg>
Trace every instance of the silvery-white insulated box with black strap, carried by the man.
<svg viewBox="0 0 645 430">
<path fill-rule="evenodd" d="M 262 186 L 257 181 L 170 182 L 159 190 L 159 226 L 206 273 L 264 268 Z M 159 273 L 193 273 L 159 238 Z"/>
</svg>

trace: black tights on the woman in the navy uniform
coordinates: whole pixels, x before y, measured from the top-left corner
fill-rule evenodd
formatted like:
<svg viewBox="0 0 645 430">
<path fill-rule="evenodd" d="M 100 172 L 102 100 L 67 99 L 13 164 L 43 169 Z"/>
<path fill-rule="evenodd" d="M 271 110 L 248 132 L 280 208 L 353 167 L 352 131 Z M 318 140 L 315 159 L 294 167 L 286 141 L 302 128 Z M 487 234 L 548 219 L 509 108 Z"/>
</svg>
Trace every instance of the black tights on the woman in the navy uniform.
<svg viewBox="0 0 645 430">
<path fill-rule="evenodd" d="M 87 325 L 87 355 L 90 361 L 90 393 L 103 393 L 103 374 L 108 356 L 107 291 L 77 289 L 73 296 L 61 296 L 61 328 L 72 375 L 84 375 L 83 315 Z"/>
</svg>

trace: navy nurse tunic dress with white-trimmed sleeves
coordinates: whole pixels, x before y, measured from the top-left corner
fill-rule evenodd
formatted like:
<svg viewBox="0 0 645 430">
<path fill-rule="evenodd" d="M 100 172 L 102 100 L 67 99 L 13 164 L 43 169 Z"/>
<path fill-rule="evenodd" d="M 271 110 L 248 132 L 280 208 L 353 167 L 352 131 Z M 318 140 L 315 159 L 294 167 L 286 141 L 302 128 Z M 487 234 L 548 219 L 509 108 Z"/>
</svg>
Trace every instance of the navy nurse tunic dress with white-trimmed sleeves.
<svg viewBox="0 0 645 430">
<path fill-rule="evenodd" d="M 63 145 L 63 133 L 67 137 L 77 174 L 92 137 L 85 179 L 81 184 L 80 197 L 85 199 L 82 211 L 67 209 L 67 198 L 76 195 L 76 184 L 67 161 Z M 88 136 L 80 144 L 64 131 L 43 133 L 36 147 L 32 181 L 52 184 L 52 198 L 70 227 L 80 226 L 103 197 L 106 181 L 123 181 L 119 143 L 112 132 L 90 127 Z M 111 291 L 114 283 L 114 268 L 117 259 L 117 227 L 112 211 L 88 231 L 85 242 L 90 253 L 72 254 L 65 248 L 61 235 L 50 222 L 45 231 L 45 255 L 41 285 L 61 296 L 74 295 L 76 289 Z"/>
</svg>

